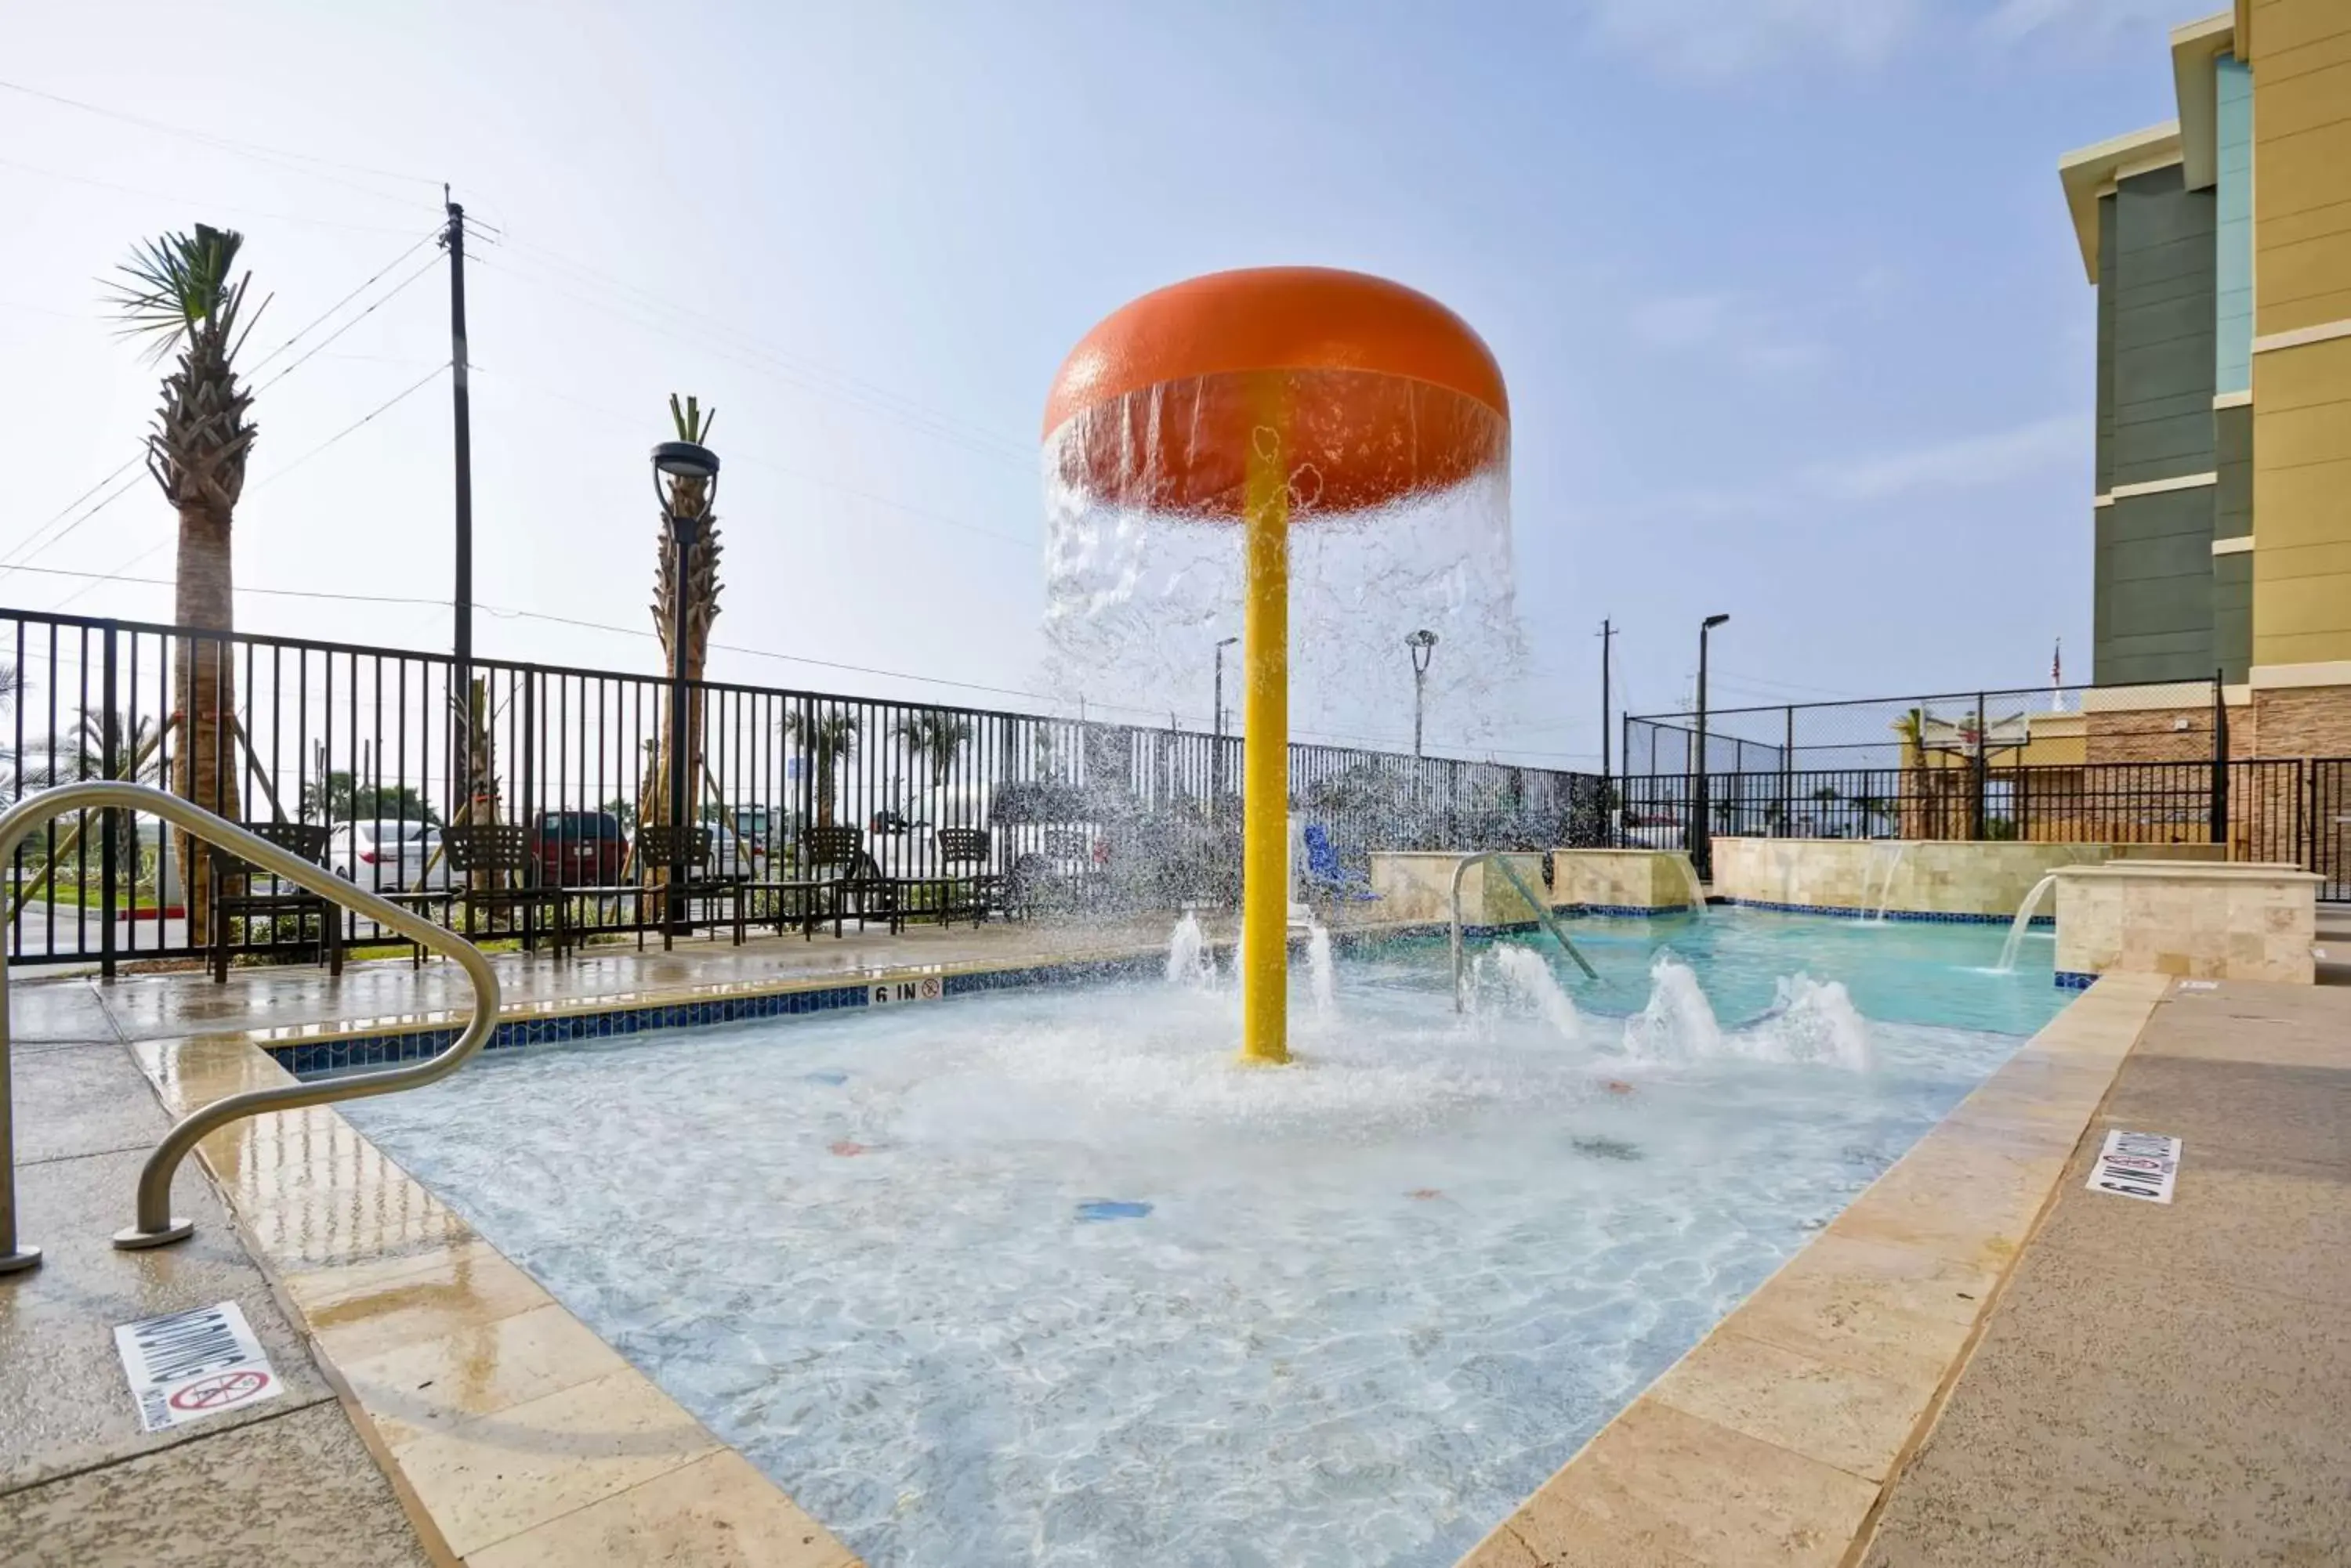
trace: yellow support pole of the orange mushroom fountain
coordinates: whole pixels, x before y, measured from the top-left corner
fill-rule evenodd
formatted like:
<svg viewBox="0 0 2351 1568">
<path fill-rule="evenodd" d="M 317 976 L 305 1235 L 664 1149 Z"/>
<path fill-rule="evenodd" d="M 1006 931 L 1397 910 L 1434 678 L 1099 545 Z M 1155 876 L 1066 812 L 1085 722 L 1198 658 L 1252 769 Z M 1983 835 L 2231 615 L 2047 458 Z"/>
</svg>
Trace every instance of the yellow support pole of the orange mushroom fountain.
<svg viewBox="0 0 2351 1568">
<path fill-rule="evenodd" d="M 1274 402 L 1274 400 L 1270 400 Z M 1241 1060 L 1281 1065 L 1291 936 L 1291 475 L 1286 421 L 1251 433 L 1241 625 Z"/>
</svg>

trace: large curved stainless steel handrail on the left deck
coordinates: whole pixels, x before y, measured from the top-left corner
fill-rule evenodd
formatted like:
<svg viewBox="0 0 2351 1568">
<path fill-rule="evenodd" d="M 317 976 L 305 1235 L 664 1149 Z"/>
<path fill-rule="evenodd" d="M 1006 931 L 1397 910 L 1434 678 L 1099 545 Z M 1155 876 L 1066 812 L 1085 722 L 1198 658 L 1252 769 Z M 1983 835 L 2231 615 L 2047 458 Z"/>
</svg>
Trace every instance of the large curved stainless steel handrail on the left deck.
<svg viewBox="0 0 2351 1568">
<path fill-rule="evenodd" d="M 148 816 L 160 816 L 197 839 L 233 851 L 247 865 L 367 914 L 379 926 L 388 926 L 411 943 L 421 943 L 442 957 L 454 959 L 465 971 L 465 978 L 473 980 L 473 1018 L 456 1037 L 456 1044 L 440 1056 L 430 1056 L 407 1067 L 362 1072 L 357 1077 L 331 1079 L 324 1084 L 249 1088 L 181 1117 L 172 1131 L 162 1135 L 162 1143 L 155 1145 L 155 1152 L 148 1154 L 146 1166 L 141 1166 L 136 1222 L 115 1232 L 115 1246 L 165 1246 L 169 1241 L 186 1241 L 195 1234 L 195 1225 L 190 1220 L 172 1215 L 172 1178 L 179 1173 L 179 1164 L 188 1157 L 188 1150 L 193 1150 L 209 1133 L 216 1133 L 230 1121 L 259 1117 L 261 1112 L 303 1110 L 306 1105 L 331 1105 L 339 1100 L 362 1100 L 367 1095 L 383 1095 L 402 1088 L 421 1088 L 463 1067 L 489 1041 L 491 1030 L 498 1027 L 498 973 L 489 966 L 489 959 L 482 957 L 480 947 L 454 931 L 428 922 L 423 914 L 402 910 L 388 898 L 379 898 L 362 886 L 353 886 L 327 867 L 313 865 L 310 860 L 303 860 L 301 856 L 270 844 L 268 839 L 247 832 L 212 811 L 205 811 L 195 802 L 167 795 L 165 790 L 134 783 L 89 780 L 31 795 L 0 816 L 0 865 L 16 858 L 16 844 L 24 842 L 33 827 L 68 811 L 96 809 L 146 811 Z M 16 1154 L 9 1126 L 12 1095 L 7 1058 L 7 954 L 0 952 L 0 1274 L 28 1269 L 40 1262 L 38 1248 L 21 1248 L 16 1244 Z"/>
</svg>

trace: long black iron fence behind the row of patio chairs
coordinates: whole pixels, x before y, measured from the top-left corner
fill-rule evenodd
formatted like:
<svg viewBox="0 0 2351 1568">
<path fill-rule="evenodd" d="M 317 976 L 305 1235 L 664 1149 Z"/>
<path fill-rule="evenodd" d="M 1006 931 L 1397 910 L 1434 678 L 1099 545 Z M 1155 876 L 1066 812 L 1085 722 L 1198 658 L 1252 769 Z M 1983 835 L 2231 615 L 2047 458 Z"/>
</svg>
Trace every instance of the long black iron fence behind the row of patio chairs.
<svg viewBox="0 0 2351 1568">
<path fill-rule="evenodd" d="M 451 922 L 475 919 L 465 896 L 484 875 L 451 872 L 444 835 L 520 825 L 522 877 L 557 889 L 571 931 L 661 919 L 663 872 L 632 853 L 670 811 L 658 675 L 475 658 L 458 691 L 444 654 L 31 611 L 0 611 L 0 665 L 5 799 L 136 778 L 230 820 L 320 825 L 331 870 Z M 915 914 L 926 879 L 971 872 L 999 877 L 1020 912 L 1239 896 L 1234 736 L 698 682 L 686 755 L 686 816 L 710 837 L 698 877 L 849 870 L 900 884 Z M 1599 778 L 1495 762 L 1293 745 L 1291 804 L 1310 875 L 1342 879 L 1375 849 L 1608 842 Z M 216 929 L 212 886 L 242 867 L 150 818 L 92 816 L 52 823 L 7 867 L 9 961 L 317 943 L 299 919 Z M 985 860 L 950 863 L 943 827 L 985 830 Z M 346 945 L 376 936 L 346 917 Z"/>
</svg>

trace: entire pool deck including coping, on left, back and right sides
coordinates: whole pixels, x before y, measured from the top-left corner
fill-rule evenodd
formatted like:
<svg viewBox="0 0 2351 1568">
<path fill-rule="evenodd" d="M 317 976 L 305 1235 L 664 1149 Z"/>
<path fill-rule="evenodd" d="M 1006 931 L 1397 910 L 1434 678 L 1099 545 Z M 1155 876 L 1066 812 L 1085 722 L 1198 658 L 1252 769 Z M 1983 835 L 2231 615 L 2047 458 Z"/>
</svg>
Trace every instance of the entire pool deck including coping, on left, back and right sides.
<svg viewBox="0 0 2351 1568">
<path fill-rule="evenodd" d="M 529 1011 L 1164 940 L 983 926 L 498 969 Z M 195 1241 L 106 1246 L 167 1114 L 287 1081 L 249 1025 L 461 1011 L 458 971 L 12 990 L 21 1234 L 47 1262 L 0 1281 L 0 1540 L 73 1563 L 856 1563 L 331 1107 L 207 1138 L 179 1180 Z M 2346 1561 L 2351 1443 L 2323 1408 L 2351 1361 L 2346 1041 L 2344 990 L 2099 980 L 1465 1563 Z M 2172 1206 L 2081 1190 L 2109 1124 L 2186 1140 Z M 214 1300 L 245 1305 L 287 1396 L 141 1436 L 110 1326 Z"/>
</svg>

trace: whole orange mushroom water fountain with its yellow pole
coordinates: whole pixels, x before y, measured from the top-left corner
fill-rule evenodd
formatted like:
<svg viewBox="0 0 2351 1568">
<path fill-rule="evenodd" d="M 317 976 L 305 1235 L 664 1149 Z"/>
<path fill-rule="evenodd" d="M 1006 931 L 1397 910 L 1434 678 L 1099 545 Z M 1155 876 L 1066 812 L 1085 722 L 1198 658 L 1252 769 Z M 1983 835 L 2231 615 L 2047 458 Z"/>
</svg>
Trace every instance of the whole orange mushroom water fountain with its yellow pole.
<svg viewBox="0 0 2351 1568">
<path fill-rule="evenodd" d="M 1246 529 L 1241 1056 L 1286 1063 L 1288 536 L 1502 475 L 1502 371 L 1467 322 L 1385 277 L 1211 273 L 1089 331 L 1044 440 L 1070 494 Z"/>
</svg>

